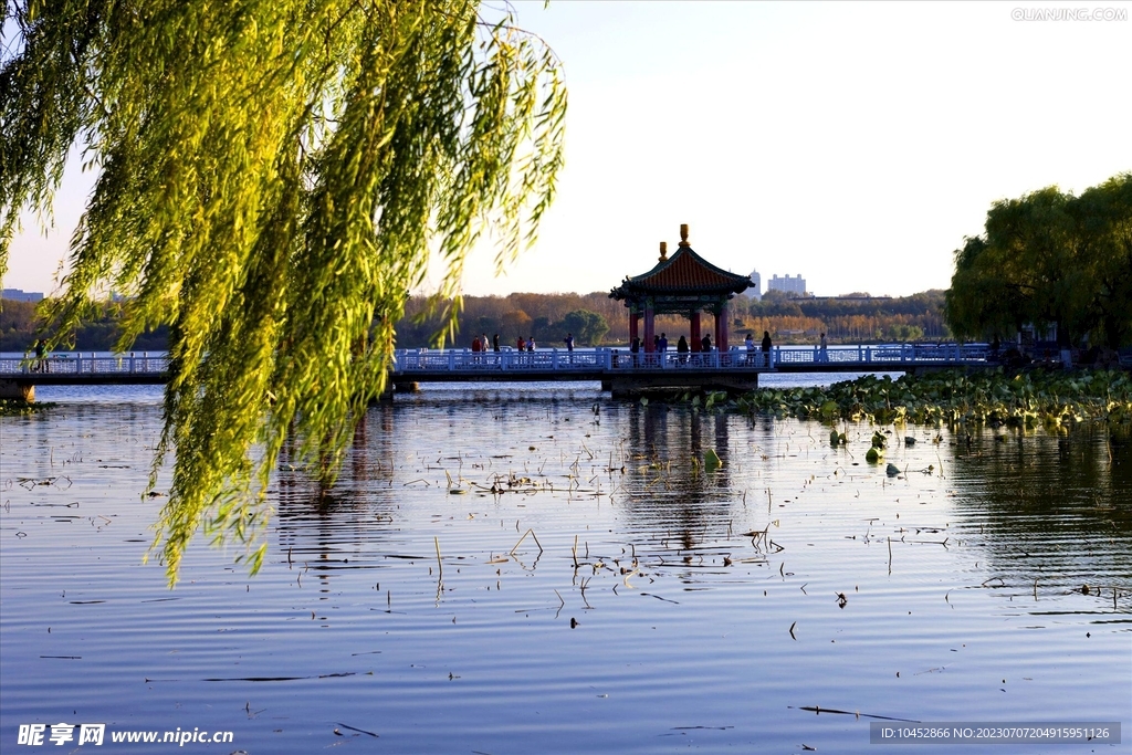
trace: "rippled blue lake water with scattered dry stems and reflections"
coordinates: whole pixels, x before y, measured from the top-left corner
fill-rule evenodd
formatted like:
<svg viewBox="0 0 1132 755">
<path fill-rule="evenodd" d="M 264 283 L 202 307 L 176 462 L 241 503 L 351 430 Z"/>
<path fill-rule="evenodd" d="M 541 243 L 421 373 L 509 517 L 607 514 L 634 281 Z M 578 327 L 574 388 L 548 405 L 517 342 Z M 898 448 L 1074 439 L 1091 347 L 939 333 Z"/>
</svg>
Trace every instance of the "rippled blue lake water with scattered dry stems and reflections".
<svg viewBox="0 0 1132 755">
<path fill-rule="evenodd" d="M 0 750 L 66 722 L 95 752 L 903 752 L 869 723 L 966 721 L 1132 752 L 1126 437 L 900 428 L 889 477 L 868 426 L 427 388 L 328 495 L 284 461 L 257 576 L 198 538 L 172 591 L 143 564 L 160 389 L 0 418 Z"/>
</svg>

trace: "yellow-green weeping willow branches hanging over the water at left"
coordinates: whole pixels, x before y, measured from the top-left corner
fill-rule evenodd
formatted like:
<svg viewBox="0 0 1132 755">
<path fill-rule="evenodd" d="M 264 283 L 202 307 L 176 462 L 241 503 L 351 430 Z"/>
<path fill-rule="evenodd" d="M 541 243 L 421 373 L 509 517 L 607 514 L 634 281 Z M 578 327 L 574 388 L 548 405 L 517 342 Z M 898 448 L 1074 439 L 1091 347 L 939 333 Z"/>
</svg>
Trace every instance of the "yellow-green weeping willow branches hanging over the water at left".
<svg viewBox="0 0 1132 755">
<path fill-rule="evenodd" d="M 68 154 L 96 183 L 50 310 L 125 294 L 170 326 L 156 551 L 201 529 L 258 568 L 283 448 L 333 481 L 430 258 L 455 301 L 484 235 L 529 244 L 563 164 L 560 66 L 465 0 L 8 0 L 0 274 Z"/>
</svg>

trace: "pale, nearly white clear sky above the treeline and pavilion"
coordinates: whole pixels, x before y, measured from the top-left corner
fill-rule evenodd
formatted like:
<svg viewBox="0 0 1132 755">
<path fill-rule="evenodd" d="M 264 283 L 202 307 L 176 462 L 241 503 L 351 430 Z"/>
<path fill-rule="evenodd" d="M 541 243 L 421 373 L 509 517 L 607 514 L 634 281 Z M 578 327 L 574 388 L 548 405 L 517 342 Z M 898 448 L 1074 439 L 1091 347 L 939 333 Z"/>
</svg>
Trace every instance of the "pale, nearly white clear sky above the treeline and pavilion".
<svg viewBox="0 0 1132 755">
<path fill-rule="evenodd" d="M 504 276 L 491 248 L 471 252 L 469 295 L 609 290 L 681 223 L 763 290 L 775 274 L 817 295 L 946 289 L 992 203 L 1132 170 L 1132 3 L 514 5 L 563 61 L 566 168 Z M 5 288 L 55 290 L 94 181 L 72 162 L 54 226 L 28 217 Z"/>
</svg>

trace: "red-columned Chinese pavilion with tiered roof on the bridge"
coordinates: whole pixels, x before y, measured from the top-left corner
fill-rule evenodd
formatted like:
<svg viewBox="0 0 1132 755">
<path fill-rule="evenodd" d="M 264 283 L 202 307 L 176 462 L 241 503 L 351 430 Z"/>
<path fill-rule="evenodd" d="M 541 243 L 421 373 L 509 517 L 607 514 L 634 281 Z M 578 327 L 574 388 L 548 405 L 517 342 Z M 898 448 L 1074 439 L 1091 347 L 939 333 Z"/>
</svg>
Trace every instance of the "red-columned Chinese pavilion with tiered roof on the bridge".
<svg viewBox="0 0 1132 755">
<path fill-rule="evenodd" d="M 713 341 L 727 349 L 728 301 L 754 285 L 747 275 L 736 275 L 715 267 L 692 250 L 688 226 L 680 225 L 680 243 L 671 257 L 668 244 L 660 242 L 660 260 L 648 273 L 626 276 L 609 292 L 610 299 L 624 301 L 629 310 L 629 340 L 641 338 L 645 352 L 655 350 L 653 319 L 657 315 L 685 315 L 691 323 L 688 345 L 700 351 L 700 315 L 711 312 L 715 320 Z M 641 323 L 644 320 L 644 333 Z"/>
</svg>

